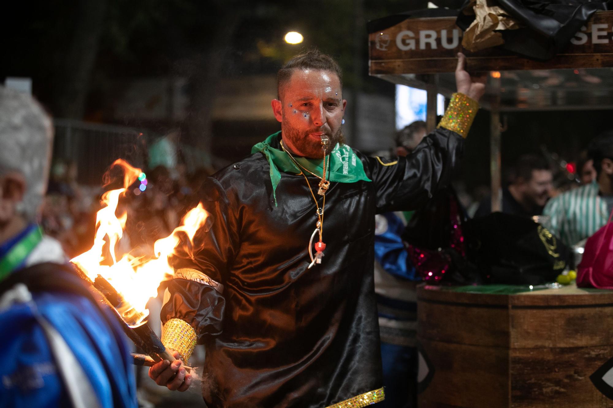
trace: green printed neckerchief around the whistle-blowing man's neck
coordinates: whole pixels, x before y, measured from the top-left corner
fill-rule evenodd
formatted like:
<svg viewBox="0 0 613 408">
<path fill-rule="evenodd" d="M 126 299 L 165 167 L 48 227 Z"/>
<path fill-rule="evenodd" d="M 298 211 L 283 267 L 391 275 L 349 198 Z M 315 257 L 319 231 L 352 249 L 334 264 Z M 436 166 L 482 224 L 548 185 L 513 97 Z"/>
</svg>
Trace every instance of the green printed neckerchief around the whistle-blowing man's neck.
<svg viewBox="0 0 613 408">
<path fill-rule="evenodd" d="M 280 131 L 276 132 L 268 136 L 264 142 L 257 143 L 257 145 L 251 148 L 251 154 L 257 152 L 264 153 L 264 156 L 266 156 L 270 164 L 270 181 L 272 182 L 272 194 L 275 198 L 275 206 L 276 186 L 281 180 L 281 172 L 294 174 L 302 173 L 302 170 L 294 164 L 287 153 L 270 146 L 271 143 L 275 143 L 280 135 Z M 315 174 L 319 175 L 324 172 L 324 159 L 307 159 L 307 157 L 294 157 L 294 159 L 301 166 Z M 340 143 L 330 152 L 330 174 L 328 179 L 329 181 L 337 181 L 338 183 L 355 183 L 360 180 L 371 181 L 364 172 L 364 165 L 362 165 L 360 158 L 353 153 L 353 150 L 349 146 L 340 145 Z"/>
</svg>

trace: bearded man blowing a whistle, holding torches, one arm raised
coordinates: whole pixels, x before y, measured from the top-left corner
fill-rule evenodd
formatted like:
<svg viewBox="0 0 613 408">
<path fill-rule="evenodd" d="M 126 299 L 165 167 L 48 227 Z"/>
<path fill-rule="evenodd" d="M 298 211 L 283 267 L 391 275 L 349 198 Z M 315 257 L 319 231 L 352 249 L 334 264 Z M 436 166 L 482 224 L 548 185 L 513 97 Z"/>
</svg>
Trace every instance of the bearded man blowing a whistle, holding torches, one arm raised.
<svg viewBox="0 0 613 408">
<path fill-rule="evenodd" d="M 202 186 L 210 229 L 173 261 L 162 341 L 206 349 L 214 407 L 363 407 L 384 398 L 373 290 L 375 214 L 411 210 L 448 183 L 484 92 L 459 55 L 440 128 L 395 162 L 345 145 L 338 64 L 308 51 L 278 72 L 281 132 Z M 191 382 L 180 363 L 150 377 Z"/>
</svg>

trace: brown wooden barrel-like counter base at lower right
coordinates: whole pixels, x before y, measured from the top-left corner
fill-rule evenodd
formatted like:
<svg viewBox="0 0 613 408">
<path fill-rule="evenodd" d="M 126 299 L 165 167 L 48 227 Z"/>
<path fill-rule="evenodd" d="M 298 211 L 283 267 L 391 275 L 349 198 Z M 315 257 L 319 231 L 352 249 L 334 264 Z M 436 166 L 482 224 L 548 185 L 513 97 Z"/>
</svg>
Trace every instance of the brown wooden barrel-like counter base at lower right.
<svg viewBox="0 0 613 408">
<path fill-rule="evenodd" d="M 613 292 L 487 289 L 417 289 L 419 407 L 613 407 Z"/>
</svg>

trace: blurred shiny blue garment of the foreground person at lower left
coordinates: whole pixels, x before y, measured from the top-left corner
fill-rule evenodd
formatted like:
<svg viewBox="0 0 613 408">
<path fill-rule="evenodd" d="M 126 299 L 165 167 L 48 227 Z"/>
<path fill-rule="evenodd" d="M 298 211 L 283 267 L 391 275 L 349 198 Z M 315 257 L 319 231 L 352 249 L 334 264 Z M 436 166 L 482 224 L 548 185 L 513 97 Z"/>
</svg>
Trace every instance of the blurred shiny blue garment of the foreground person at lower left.
<svg viewBox="0 0 613 408">
<path fill-rule="evenodd" d="M 67 293 L 37 293 L 33 303 L 0 312 L 0 347 L 9 357 L 0 365 L 0 407 L 70 406 L 34 308 L 63 336 L 102 407 L 137 407 L 129 350 L 110 311 Z"/>
</svg>

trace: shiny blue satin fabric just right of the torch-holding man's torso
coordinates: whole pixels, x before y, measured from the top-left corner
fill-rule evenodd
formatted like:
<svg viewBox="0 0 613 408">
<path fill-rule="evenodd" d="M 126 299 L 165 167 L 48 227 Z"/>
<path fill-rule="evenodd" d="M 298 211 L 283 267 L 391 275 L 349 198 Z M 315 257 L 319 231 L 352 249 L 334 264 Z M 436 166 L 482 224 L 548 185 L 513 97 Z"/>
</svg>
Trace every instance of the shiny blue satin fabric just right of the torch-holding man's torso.
<svg viewBox="0 0 613 408">
<path fill-rule="evenodd" d="M 387 228 L 377 231 L 375 235 L 375 260 L 387 273 L 410 281 L 421 281 L 421 276 L 409 260 L 405 244 L 400 238 L 405 229 L 402 219 L 395 213 L 385 213 L 381 216 L 385 217 Z"/>
</svg>

